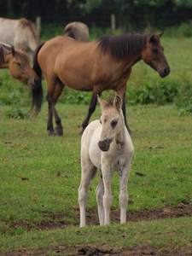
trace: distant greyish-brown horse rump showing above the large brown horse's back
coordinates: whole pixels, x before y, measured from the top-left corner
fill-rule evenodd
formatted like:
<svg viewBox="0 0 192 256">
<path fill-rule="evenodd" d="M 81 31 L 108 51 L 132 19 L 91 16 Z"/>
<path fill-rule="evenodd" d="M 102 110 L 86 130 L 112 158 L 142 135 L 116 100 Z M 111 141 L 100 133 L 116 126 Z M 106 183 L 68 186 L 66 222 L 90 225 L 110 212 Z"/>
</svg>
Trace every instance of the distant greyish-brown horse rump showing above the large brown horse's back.
<svg viewBox="0 0 192 256">
<path fill-rule="evenodd" d="M 64 29 L 63 36 L 80 42 L 89 42 L 89 27 L 82 22 L 69 23 Z"/>
</svg>

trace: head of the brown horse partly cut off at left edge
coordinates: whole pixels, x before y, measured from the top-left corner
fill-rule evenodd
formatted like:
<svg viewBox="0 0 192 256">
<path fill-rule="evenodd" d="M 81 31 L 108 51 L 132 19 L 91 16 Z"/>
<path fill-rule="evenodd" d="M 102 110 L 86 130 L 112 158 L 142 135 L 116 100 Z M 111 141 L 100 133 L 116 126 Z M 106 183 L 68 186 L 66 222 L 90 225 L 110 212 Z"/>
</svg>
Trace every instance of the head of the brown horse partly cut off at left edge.
<svg viewBox="0 0 192 256">
<path fill-rule="evenodd" d="M 28 85 L 31 89 L 38 88 L 40 79 L 30 66 L 28 55 L 23 48 L 11 48 L 7 59 L 9 58 L 9 72 L 14 79 L 20 80 L 21 83 Z"/>
</svg>

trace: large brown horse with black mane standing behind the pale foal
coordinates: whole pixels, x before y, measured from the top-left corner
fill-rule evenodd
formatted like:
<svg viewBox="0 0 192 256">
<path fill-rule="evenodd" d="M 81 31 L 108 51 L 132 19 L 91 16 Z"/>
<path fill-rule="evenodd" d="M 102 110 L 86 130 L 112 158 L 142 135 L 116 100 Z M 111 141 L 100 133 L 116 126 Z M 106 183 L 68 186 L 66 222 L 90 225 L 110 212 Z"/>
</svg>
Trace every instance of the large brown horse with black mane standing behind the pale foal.
<svg viewBox="0 0 192 256">
<path fill-rule="evenodd" d="M 125 117 L 126 83 L 130 78 L 131 67 L 143 59 L 164 78 L 170 73 L 170 67 L 160 45 L 160 37 L 155 34 L 125 34 L 102 36 L 91 43 L 83 43 L 62 36 L 52 38 L 40 45 L 34 57 L 33 68 L 47 81 L 49 102 L 49 135 L 62 135 L 61 119 L 55 110 L 55 104 L 65 85 L 74 90 L 93 91 L 89 112 L 83 122 L 83 131 L 89 123 L 90 115 L 95 111 L 97 95 L 103 90 L 116 90 L 122 98 L 122 110 Z M 53 127 L 53 114 L 57 127 Z M 130 129 L 126 122 L 129 132 Z M 82 132 L 83 132 L 82 131 Z"/>
</svg>

